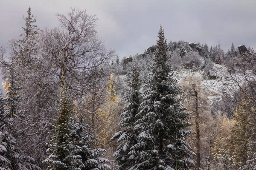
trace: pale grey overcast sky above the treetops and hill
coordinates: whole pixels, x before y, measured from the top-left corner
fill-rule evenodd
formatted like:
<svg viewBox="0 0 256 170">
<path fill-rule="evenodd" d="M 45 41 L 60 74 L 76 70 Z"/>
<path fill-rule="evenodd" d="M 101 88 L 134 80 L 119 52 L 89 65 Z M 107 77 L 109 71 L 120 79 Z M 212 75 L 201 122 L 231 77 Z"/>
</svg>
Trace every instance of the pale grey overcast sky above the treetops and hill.
<svg viewBox="0 0 256 170">
<path fill-rule="evenodd" d="M 143 53 L 155 44 L 162 24 L 167 41 L 256 47 L 256 0 L 0 0 L 0 44 L 18 38 L 28 7 L 39 28 L 58 26 L 55 13 L 71 7 L 99 18 L 97 30 L 120 57 Z"/>
</svg>

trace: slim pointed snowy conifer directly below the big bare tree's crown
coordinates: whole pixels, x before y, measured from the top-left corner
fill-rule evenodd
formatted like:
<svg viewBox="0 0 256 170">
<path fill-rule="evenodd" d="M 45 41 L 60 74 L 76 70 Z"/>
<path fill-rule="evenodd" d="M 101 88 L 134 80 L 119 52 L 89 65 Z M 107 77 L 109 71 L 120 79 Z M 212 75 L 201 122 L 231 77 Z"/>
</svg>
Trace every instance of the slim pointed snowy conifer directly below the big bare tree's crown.
<svg viewBox="0 0 256 170">
<path fill-rule="evenodd" d="M 70 114 L 71 108 L 66 92 L 61 94 L 61 106 L 58 113 L 55 134 L 49 143 L 47 152 L 51 153 L 43 163 L 52 170 L 75 170 L 83 166 L 81 156 L 75 155 L 76 146 L 70 140 Z"/>
</svg>

